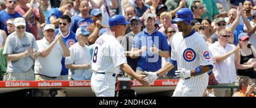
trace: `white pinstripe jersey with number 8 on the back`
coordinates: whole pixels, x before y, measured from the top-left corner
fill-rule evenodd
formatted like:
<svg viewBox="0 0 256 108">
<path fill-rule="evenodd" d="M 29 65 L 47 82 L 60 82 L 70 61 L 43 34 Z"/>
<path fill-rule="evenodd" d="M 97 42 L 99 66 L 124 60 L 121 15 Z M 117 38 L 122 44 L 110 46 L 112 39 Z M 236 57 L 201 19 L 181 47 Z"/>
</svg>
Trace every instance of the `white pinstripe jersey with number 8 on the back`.
<svg viewBox="0 0 256 108">
<path fill-rule="evenodd" d="M 104 33 L 94 43 L 92 70 L 96 72 L 119 72 L 120 64 L 127 63 L 123 46 L 109 33 Z"/>
</svg>

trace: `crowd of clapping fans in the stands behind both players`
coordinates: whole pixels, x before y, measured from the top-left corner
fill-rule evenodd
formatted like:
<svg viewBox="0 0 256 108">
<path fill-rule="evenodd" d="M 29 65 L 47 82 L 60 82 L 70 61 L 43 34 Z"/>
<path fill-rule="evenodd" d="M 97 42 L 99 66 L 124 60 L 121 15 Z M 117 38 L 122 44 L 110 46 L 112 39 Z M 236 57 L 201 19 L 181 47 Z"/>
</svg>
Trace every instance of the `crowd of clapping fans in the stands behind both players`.
<svg viewBox="0 0 256 108">
<path fill-rule="evenodd" d="M 193 31 L 213 55 L 215 85 L 239 85 L 251 96 L 256 83 L 256 0 L 0 0 L 0 80 L 90 80 L 94 42 L 109 18 L 131 24 L 117 38 L 137 74 L 159 70 L 171 56 L 172 23 L 191 8 Z M 177 79 L 177 67 L 159 79 Z M 124 72 L 120 72 L 123 75 Z M 127 76 L 128 75 L 123 75 Z M 209 84 L 212 84 L 209 82 Z M 205 96 L 230 96 L 213 88 Z"/>
</svg>

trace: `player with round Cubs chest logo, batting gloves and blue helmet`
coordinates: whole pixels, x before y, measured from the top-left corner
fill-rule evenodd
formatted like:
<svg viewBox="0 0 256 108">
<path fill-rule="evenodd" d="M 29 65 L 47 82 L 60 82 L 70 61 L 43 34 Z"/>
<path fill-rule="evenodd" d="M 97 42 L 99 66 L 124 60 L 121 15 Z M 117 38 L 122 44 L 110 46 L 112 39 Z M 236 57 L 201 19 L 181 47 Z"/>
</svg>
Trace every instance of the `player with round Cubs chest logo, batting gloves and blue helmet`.
<svg viewBox="0 0 256 108">
<path fill-rule="evenodd" d="M 180 78 L 173 96 L 201 97 L 208 85 L 207 72 L 213 68 L 212 54 L 203 37 L 192 30 L 193 13 L 189 8 L 181 8 L 176 12 L 179 32 L 171 43 L 171 59 L 157 72 L 145 72 L 150 83 L 159 76 L 178 67 L 175 75 Z"/>
</svg>

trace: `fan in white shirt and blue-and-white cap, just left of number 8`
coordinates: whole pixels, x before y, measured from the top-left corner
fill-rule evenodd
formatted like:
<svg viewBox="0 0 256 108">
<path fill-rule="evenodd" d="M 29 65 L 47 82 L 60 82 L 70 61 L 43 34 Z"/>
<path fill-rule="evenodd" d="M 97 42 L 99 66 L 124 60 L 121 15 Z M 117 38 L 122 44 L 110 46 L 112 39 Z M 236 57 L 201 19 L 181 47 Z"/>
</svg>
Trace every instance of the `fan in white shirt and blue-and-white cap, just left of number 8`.
<svg viewBox="0 0 256 108">
<path fill-rule="evenodd" d="M 69 80 L 90 80 L 92 70 L 90 68 L 90 56 L 88 43 L 89 31 L 82 27 L 76 31 L 78 42 L 69 47 L 70 56 L 65 59 L 65 67 L 69 68 Z"/>
</svg>

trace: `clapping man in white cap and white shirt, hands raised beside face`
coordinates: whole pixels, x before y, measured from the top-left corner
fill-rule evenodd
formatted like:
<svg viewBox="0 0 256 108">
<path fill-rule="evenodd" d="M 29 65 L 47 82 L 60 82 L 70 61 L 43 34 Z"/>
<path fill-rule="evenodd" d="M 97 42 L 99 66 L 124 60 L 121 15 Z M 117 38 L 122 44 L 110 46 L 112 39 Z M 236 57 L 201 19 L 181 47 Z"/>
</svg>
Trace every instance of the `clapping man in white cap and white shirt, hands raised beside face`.
<svg viewBox="0 0 256 108">
<path fill-rule="evenodd" d="M 44 38 L 36 41 L 40 54 L 35 61 L 35 80 L 60 80 L 61 59 L 70 55 L 60 34 L 53 40 L 54 31 L 54 25 L 47 24 L 44 27 Z"/>
</svg>

